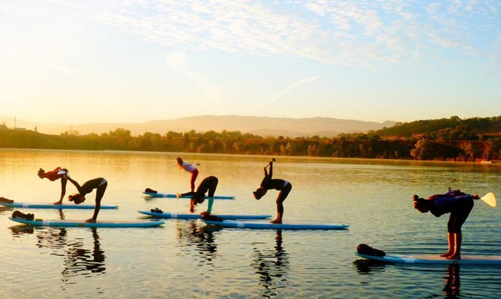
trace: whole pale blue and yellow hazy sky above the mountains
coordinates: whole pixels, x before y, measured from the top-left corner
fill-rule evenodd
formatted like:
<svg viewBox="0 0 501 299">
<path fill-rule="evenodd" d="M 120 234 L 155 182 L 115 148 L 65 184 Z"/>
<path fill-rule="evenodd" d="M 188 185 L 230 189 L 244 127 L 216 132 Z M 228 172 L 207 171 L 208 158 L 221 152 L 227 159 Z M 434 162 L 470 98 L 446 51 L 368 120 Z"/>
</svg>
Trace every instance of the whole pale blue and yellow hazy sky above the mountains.
<svg viewBox="0 0 501 299">
<path fill-rule="evenodd" d="M 501 1 L 0 2 L 0 115 L 501 115 Z"/>
</svg>

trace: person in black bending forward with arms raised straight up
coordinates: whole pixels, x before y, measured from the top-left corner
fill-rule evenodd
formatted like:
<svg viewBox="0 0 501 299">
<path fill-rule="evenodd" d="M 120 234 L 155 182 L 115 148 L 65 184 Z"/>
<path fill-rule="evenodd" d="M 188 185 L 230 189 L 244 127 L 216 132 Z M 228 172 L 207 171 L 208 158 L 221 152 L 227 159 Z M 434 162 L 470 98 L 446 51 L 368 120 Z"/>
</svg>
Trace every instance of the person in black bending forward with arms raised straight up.
<svg viewBox="0 0 501 299">
<path fill-rule="evenodd" d="M 267 172 L 267 166 L 264 168 L 264 179 L 261 181 L 261 186 L 260 188 L 257 188 L 256 191 L 253 192 L 253 194 L 256 200 L 260 200 L 268 190 L 275 189 L 280 191 L 276 200 L 277 218 L 271 221 L 271 223 L 280 224 L 282 223 L 283 218 L 283 202 L 285 198 L 287 198 L 287 195 L 289 195 L 289 192 L 292 190 L 292 184 L 290 184 L 289 181 L 285 181 L 285 179 L 272 179 L 271 177 L 273 177 L 273 161 L 270 161 L 268 165 L 270 168 L 269 174 Z"/>
</svg>

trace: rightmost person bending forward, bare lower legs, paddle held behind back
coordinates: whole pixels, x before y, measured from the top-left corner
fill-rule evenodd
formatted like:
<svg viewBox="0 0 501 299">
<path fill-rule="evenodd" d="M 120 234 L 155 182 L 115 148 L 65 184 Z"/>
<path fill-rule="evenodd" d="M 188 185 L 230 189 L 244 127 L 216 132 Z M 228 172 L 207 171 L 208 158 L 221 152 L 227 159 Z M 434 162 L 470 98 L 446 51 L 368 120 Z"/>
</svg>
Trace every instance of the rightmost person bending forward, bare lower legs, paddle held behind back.
<svg viewBox="0 0 501 299">
<path fill-rule="evenodd" d="M 421 213 L 430 211 L 434 216 L 440 217 L 445 213 L 450 213 L 447 223 L 447 243 L 449 250 L 440 257 L 446 259 L 461 259 L 461 242 L 463 234 L 461 226 L 465 222 L 473 208 L 473 200 L 478 199 L 477 193 L 469 195 L 459 190 L 449 191 L 445 194 L 436 194 L 428 197 L 427 200 L 417 195 L 413 196 L 414 209 Z"/>
</svg>

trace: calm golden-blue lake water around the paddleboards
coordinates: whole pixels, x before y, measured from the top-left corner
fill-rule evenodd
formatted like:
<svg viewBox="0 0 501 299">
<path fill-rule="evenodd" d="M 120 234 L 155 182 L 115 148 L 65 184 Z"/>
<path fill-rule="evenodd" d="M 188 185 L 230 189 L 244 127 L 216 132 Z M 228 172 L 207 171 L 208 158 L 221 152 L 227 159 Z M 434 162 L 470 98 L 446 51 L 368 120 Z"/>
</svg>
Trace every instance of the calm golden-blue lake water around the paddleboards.
<svg viewBox="0 0 501 299">
<path fill-rule="evenodd" d="M 187 212 L 187 200 L 145 199 L 146 187 L 188 191 L 172 153 L 0 149 L 0 196 L 55 202 L 59 181 L 38 168 L 70 169 L 83 184 L 109 181 L 98 220 L 148 220 L 137 210 Z M 214 213 L 276 213 L 276 191 L 254 200 L 268 157 L 180 154 L 201 163 L 199 183 L 219 178 Z M 501 267 L 395 266 L 356 257 L 360 243 L 392 254 L 440 254 L 448 216 L 413 209 L 413 194 L 447 187 L 501 197 L 500 165 L 276 157 L 273 174 L 292 182 L 284 223 L 346 223 L 345 231 L 217 229 L 166 220 L 152 229 L 20 227 L 0 211 L 0 298 L 499 298 Z M 69 183 L 67 193 L 74 193 Z M 92 204 L 95 193 L 88 195 Z M 499 201 L 499 199 L 498 199 Z M 65 200 L 67 202 L 67 200 Z M 204 211 L 205 204 L 196 212 Z M 92 210 L 27 210 L 36 218 L 86 219 Z M 463 254 L 501 254 L 501 209 L 475 202 L 463 225 Z"/>
</svg>

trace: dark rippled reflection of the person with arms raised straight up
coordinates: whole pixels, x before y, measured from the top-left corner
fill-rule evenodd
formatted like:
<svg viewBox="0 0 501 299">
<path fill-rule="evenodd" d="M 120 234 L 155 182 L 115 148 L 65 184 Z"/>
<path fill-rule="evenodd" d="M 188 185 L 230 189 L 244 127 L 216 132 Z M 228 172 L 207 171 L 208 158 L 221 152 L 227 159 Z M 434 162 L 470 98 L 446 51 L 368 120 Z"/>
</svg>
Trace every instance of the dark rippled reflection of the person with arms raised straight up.
<svg viewBox="0 0 501 299">
<path fill-rule="evenodd" d="M 278 290 L 287 287 L 287 270 L 289 268 L 289 254 L 283 248 L 282 230 L 276 231 L 276 245 L 273 249 L 254 247 L 254 261 L 250 266 L 259 275 L 261 296 L 266 298 L 278 296 Z M 257 245 L 257 244 L 253 244 Z"/>
</svg>

